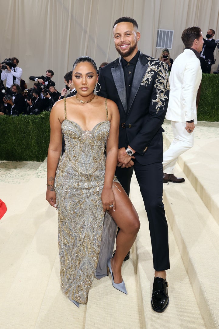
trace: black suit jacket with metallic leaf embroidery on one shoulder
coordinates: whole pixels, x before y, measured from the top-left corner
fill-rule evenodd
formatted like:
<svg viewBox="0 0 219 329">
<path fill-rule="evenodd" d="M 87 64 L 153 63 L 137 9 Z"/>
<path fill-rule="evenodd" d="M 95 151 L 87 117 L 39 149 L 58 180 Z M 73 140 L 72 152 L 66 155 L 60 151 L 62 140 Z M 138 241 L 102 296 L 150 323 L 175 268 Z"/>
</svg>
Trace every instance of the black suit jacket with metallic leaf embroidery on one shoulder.
<svg viewBox="0 0 219 329">
<path fill-rule="evenodd" d="M 128 140 L 140 164 L 162 162 L 162 124 L 169 96 L 167 65 L 140 52 L 129 100 L 121 58 L 100 68 L 99 84 L 99 95 L 113 100 L 119 108 L 119 148 L 127 146 Z M 126 124 L 125 128 L 122 123 Z"/>
</svg>

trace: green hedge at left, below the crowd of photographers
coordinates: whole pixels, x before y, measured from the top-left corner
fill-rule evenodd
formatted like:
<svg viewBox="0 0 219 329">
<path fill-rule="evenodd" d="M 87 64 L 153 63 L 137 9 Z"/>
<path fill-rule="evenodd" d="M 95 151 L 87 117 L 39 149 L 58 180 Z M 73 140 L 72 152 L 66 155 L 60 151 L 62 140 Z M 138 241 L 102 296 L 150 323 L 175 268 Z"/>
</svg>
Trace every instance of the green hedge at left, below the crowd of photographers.
<svg viewBox="0 0 219 329">
<path fill-rule="evenodd" d="M 0 115 L 0 160 L 44 161 L 50 140 L 50 112 Z"/>
</svg>

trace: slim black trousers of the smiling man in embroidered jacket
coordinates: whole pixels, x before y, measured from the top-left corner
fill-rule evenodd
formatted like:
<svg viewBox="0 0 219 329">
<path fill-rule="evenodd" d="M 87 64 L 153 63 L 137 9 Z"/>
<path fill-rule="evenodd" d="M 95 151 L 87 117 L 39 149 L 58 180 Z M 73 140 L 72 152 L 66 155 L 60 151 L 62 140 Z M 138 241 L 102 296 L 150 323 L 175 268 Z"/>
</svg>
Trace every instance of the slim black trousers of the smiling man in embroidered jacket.
<svg viewBox="0 0 219 329">
<path fill-rule="evenodd" d="M 117 167 L 116 176 L 128 195 L 133 170 L 135 170 L 149 221 L 154 269 L 163 271 L 170 267 L 168 226 L 162 201 L 163 165 L 162 163 L 142 165 L 134 159 L 134 166 L 130 168 Z"/>
</svg>

